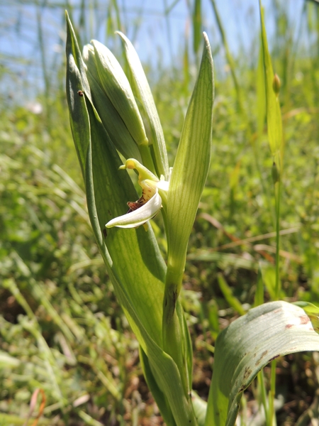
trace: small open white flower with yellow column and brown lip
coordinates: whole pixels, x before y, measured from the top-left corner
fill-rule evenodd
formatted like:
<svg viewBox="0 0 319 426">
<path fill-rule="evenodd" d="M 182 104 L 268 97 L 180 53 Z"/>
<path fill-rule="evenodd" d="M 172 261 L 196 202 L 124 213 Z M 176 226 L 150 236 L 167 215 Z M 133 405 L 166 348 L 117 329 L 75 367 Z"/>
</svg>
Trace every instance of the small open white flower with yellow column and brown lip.
<svg viewBox="0 0 319 426">
<path fill-rule="evenodd" d="M 157 179 L 150 170 L 134 158 L 126 160 L 125 165 L 121 165 L 120 168 L 138 170 L 138 183 L 142 187 L 142 197 L 138 201 L 128 202 L 128 213 L 111 219 L 106 224 L 106 228 L 112 228 L 113 226 L 135 228 L 155 217 L 162 207 L 162 202 L 166 204 L 169 180 L 164 180 L 164 176 L 161 176 L 160 180 Z"/>
</svg>

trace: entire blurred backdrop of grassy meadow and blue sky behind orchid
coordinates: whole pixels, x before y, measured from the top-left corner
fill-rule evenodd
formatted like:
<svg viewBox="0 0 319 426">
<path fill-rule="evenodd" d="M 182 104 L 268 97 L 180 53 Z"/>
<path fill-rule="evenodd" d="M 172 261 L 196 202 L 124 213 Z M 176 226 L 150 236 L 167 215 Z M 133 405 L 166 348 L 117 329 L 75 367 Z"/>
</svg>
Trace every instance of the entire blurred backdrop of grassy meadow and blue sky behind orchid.
<svg viewBox="0 0 319 426">
<path fill-rule="evenodd" d="M 265 6 L 285 141 L 281 297 L 319 305 L 319 8 L 302 0 Z M 211 39 L 213 160 L 181 293 L 194 342 L 194 389 L 207 398 L 219 330 L 252 307 L 257 283 L 264 285 L 265 301 L 274 297 L 274 194 L 258 72 L 258 4 L 0 2 L 0 425 L 23 425 L 36 388 L 45 395 L 39 425 L 162 425 L 86 212 L 65 99 L 65 9 L 82 43 L 99 38 L 121 60 L 113 31 L 135 42 L 170 165 L 196 78 L 201 32 Z M 165 253 L 160 217 L 153 228 Z M 277 373 L 278 425 L 310 424 L 318 417 L 318 355 L 286 356 Z M 243 399 L 242 424 L 262 425 L 250 420 L 258 401 L 253 384 Z"/>
</svg>

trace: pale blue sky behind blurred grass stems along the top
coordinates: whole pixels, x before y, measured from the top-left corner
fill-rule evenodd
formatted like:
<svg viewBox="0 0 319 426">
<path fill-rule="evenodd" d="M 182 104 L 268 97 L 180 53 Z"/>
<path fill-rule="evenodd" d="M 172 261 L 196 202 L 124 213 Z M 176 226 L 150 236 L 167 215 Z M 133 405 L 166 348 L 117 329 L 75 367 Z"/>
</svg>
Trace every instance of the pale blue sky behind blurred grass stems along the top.
<svg viewBox="0 0 319 426">
<path fill-rule="evenodd" d="M 143 62 L 151 63 L 153 67 L 167 67 L 181 60 L 181 50 L 184 49 L 186 34 L 191 37 L 191 18 L 188 4 L 193 0 L 118 0 L 121 9 L 122 30 L 133 40 L 135 48 Z M 39 1 L 40 3 L 40 1 Z M 87 42 L 97 38 L 108 47 L 116 50 L 116 43 L 106 37 L 106 16 L 108 14 L 107 0 L 96 1 L 97 11 L 91 11 L 94 2 L 86 1 Z M 212 50 L 220 44 L 220 37 L 210 0 L 201 0 L 203 11 L 203 30 L 208 33 Z M 274 34 L 273 0 L 262 2 L 266 11 L 266 23 L 269 39 Z M 298 16 L 301 16 L 303 0 L 281 0 L 289 8 L 291 17 L 298 26 Z M 40 3 L 41 4 L 41 3 Z M 62 61 L 65 45 L 65 3 L 52 0 L 44 2 L 51 7 L 43 6 L 36 9 L 28 1 L 11 0 L 0 2 L 0 60 L 1 65 L 8 67 L 10 75 L 1 79 L 1 88 L 11 91 L 12 97 L 33 97 L 36 88 L 43 87 L 42 62 L 38 43 L 38 18 L 43 31 L 43 51 L 47 73 L 54 75 L 58 64 Z M 69 0 L 74 8 L 74 20 L 79 18 L 79 0 Z M 244 55 L 251 61 L 251 44 L 256 43 L 259 29 L 258 0 L 216 0 L 216 4 L 225 26 L 230 49 L 237 55 L 244 48 Z M 168 17 L 164 11 L 172 7 Z M 40 13 L 39 13 L 40 12 Z M 111 16 L 115 18 L 115 12 Z M 116 24 L 115 24 L 116 25 Z M 116 28 L 117 29 L 117 28 Z M 275 42 L 275 40 L 273 40 Z M 191 39 L 189 41 L 191 45 Z M 245 51 L 246 49 L 246 51 Z M 257 49 L 256 49 L 257 50 Z M 216 54 L 216 61 L 223 62 L 223 50 Z M 245 59 L 245 58 L 244 58 Z M 52 84 L 57 84 L 52 82 Z"/>
</svg>

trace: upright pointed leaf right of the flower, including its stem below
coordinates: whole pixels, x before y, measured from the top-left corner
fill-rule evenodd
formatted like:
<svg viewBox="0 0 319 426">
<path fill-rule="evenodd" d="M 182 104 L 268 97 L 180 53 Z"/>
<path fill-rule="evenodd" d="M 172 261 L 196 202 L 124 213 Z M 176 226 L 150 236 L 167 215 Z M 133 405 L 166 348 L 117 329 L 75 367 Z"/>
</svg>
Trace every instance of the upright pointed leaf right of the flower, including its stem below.
<svg viewBox="0 0 319 426">
<path fill-rule="evenodd" d="M 198 79 L 186 113 L 167 196 L 168 261 L 163 300 L 163 347 L 179 368 L 184 396 L 190 391 L 185 327 L 176 308 L 181 290 L 189 234 L 211 160 L 213 59 L 207 35 Z M 178 342 L 178 344 L 177 344 Z M 180 347 L 179 347 L 180 346 Z"/>
</svg>

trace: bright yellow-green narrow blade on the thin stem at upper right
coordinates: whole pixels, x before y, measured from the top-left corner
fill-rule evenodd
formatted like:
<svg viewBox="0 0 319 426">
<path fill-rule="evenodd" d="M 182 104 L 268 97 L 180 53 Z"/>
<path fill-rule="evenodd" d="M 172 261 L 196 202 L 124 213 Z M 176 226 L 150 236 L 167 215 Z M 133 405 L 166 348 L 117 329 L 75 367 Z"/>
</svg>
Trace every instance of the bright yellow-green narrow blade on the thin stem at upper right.
<svg viewBox="0 0 319 426">
<path fill-rule="evenodd" d="M 273 89 L 274 71 L 272 69 L 272 59 L 270 58 L 266 28 L 264 26 L 264 11 L 259 0 L 260 21 L 262 26 L 262 48 L 264 54 L 264 77 L 266 88 L 267 104 L 267 130 L 269 138 L 270 151 L 274 157 L 279 172 L 281 171 L 282 155 L 282 122 L 279 97 L 276 96 Z"/>
</svg>

